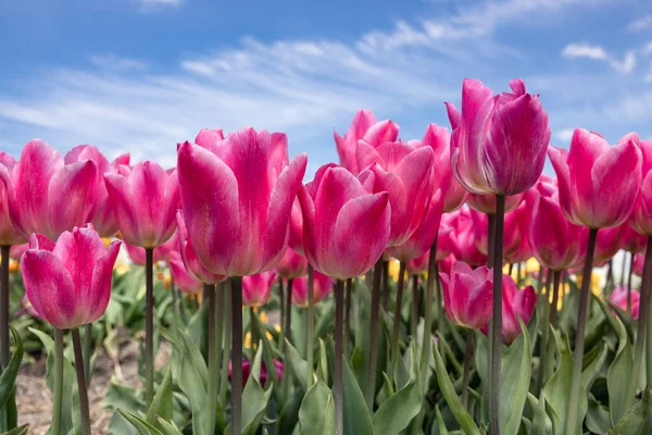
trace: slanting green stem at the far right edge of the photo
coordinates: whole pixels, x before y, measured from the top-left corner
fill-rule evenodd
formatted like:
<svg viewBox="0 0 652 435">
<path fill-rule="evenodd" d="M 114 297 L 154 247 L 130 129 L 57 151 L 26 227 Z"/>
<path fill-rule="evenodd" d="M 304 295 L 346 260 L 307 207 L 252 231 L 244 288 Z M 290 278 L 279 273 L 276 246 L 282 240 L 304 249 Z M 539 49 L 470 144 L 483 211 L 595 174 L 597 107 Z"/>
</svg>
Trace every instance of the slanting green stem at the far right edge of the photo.
<svg viewBox="0 0 652 435">
<path fill-rule="evenodd" d="M 636 396 L 641 365 L 643 361 L 643 351 L 645 349 L 645 328 L 648 327 L 648 315 L 650 313 L 650 273 L 652 272 L 652 237 L 648 237 L 648 247 L 645 249 L 645 260 L 643 263 L 643 276 L 641 282 L 641 295 L 639 301 L 639 318 L 637 323 L 636 344 L 634 348 L 634 366 L 629 377 L 628 395 L 625 398 L 625 409 L 631 408 Z M 634 257 L 634 253 L 631 254 Z"/>
</svg>

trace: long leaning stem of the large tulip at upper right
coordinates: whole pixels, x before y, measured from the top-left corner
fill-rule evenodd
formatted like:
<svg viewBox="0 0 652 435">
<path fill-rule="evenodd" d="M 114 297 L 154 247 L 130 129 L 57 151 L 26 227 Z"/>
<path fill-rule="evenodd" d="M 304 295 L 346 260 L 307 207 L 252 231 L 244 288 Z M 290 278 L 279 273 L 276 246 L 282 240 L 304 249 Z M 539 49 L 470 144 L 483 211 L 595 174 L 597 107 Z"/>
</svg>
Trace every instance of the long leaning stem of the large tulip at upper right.
<svg viewBox="0 0 652 435">
<path fill-rule="evenodd" d="M 581 387 L 581 362 L 584 359 L 585 330 L 587 326 L 587 309 L 589 302 L 589 291 L 591 289 L 591 271 L 593 270 L 593 253 L 595 251 L 595 239 L 598 228 L 589 231 L 589 241 L 587 247 L 587 258 L 585 260 L 584 271 L 581 273 L 581 288 L 579 290 L 579 304 L 577 307 L 577 332 L 575 333 L 575 357 L 573 362 L 573 381 L 570 383 L 570 396 L 568 409 L 566 410 L 565 434 L 575 433 L 577 425 L 577 409 L 579 406 L 579 389 Z"/>
</svg>

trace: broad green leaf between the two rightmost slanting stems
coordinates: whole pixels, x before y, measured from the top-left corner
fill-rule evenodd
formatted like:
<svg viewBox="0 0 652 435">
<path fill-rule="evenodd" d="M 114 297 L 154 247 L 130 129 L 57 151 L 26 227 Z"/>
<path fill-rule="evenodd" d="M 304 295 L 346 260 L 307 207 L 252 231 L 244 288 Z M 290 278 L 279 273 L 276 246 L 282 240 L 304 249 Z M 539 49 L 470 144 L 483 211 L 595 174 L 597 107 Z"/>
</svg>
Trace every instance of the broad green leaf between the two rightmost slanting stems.
<svg viewBox="0 0 652 435">
<path fill-rule="evenodd" d="M 616 358 L 609 366 L 606 372 L 606 388 L 609 389 L 609 410 L 612 425 L 615 426 L 625 415 L 627 402 L 629 377 L 634 366 L 634 350 L 625 325 L 619 319 L 614 318 L 618 327 L 618 349 Z"/>
</svg>

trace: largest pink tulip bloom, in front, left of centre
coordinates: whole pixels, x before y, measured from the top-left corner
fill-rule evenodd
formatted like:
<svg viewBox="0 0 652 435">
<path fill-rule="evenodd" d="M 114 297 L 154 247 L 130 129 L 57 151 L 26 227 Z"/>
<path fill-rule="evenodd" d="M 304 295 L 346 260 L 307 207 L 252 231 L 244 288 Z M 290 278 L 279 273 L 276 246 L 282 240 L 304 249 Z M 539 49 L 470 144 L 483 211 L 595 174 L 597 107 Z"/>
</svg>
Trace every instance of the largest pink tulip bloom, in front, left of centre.
<svg viewBox="0 0 652 435">
<path fill-rule="evenodd" d="M 288 164 L 287 137 L 248 127 L 208 148 L 178 150 L 179 187 L 188 237 L 201 263 L 243 276 L 276 265 L 287 248 L 292 202 L 305 154 Z"/>
</svg>

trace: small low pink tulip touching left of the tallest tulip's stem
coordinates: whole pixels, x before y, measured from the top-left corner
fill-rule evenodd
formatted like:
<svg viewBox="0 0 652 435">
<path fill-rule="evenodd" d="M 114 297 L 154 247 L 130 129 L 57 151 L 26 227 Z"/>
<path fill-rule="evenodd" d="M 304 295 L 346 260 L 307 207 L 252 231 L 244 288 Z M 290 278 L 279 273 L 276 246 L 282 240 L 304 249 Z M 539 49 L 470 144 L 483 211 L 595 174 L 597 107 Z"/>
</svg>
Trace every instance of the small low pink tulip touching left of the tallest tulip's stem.
<svg viewBox="0 0 652 435">
<path fill-rule="evenodd" d="M 491 273 L 487 266 L 473 270 L 468 264 L 457 261 L 450 275 L 439 274 L 443 306 L 451 322 L 474 330 L 489 322 L 493 295 Z"/>
</svg>

